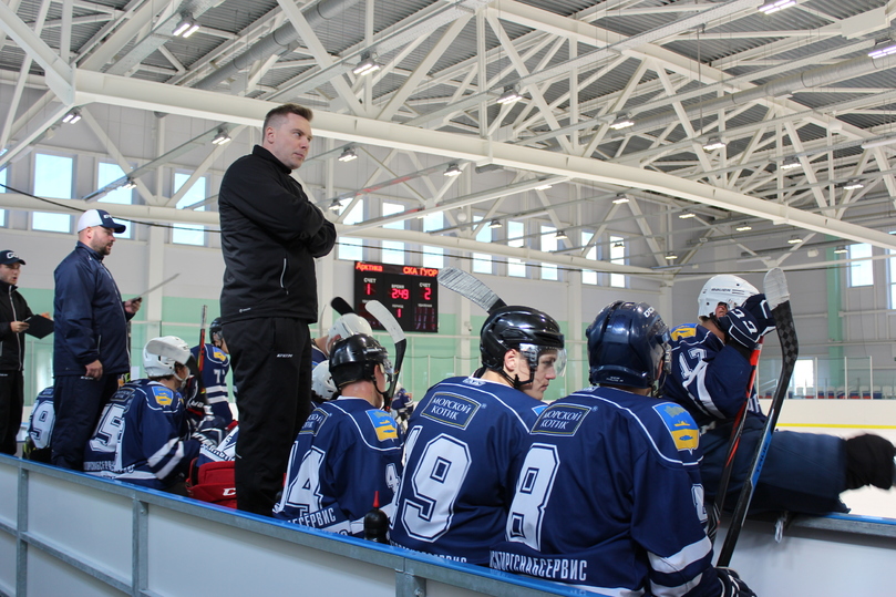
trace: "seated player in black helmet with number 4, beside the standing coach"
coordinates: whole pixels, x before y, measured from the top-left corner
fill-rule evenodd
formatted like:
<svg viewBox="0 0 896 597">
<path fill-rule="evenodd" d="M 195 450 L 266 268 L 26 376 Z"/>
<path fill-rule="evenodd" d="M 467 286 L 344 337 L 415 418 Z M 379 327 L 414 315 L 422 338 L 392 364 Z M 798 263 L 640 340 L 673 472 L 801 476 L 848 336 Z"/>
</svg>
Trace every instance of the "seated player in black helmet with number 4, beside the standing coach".
<svg viewBox="0 0 896 597">
<path fill-rule="evenodd" d="M 274 516 L 363 537 L 377 493 L 389 504 L 401 476 L 402 440 L 382 410 L 392 364 L 377 340 L 359 333 L 333 344 L 330 372 L 337 398 L 315 409 L 296 438 Z"/>
</svg>

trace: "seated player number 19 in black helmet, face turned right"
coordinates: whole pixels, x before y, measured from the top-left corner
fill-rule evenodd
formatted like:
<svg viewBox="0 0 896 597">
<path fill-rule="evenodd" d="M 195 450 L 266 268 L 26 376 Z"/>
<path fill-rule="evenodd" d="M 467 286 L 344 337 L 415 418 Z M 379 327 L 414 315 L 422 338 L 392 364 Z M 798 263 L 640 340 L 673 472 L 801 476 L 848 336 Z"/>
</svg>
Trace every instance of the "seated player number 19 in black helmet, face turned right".
<svg viewBox="0 0 896 597">
<path fill-rule="evenodd" d="M 557 322 L 528 307 L 493 311 L 480 351 L 478 371 L 433 385 L 411 414 L 391 539 L 487 566 L 528 430 L 566 352 Z"/>
</svg>

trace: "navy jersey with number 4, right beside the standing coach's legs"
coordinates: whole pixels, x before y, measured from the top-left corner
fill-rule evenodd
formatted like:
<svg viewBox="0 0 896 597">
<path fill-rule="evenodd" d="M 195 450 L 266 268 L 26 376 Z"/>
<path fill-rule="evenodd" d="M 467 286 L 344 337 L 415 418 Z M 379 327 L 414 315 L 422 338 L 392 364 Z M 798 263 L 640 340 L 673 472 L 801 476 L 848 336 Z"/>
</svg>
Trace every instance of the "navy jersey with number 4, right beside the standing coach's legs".
<svg viewBox="0 0 896 597">
<path fill-rule="evenodd" d="M 364 515 L 389 507 L 401 476 L 402 439 L 392 416 L 367 400 L 342 397 L 315 409 L 289 455 L 274 516 L 363 537 Z"/>
</svg>

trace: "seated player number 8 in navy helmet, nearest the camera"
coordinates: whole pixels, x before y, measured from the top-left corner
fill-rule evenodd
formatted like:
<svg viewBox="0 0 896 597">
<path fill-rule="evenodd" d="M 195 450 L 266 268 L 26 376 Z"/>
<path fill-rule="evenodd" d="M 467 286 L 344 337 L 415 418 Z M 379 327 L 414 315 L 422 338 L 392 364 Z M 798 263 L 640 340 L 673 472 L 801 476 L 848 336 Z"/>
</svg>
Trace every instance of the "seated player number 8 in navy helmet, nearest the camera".
<svg viewBox="0 0 896 597">
<path fill-rule="evenodd" d="M 753 596 L 712 567 L 696 423 L 653 398 L 669 359 L 662 319 L 617 301 L 586 336 L 595 387 L 535 422 L 491 566 L 607 595 Z"/>
</svg>

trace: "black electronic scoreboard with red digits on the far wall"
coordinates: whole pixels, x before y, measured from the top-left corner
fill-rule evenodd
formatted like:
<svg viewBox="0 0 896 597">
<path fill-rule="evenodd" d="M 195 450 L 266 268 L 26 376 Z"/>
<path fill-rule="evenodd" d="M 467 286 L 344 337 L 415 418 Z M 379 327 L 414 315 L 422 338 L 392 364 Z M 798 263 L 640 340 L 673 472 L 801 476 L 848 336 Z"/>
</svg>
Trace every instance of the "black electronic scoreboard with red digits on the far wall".
<svg viewBox="0 0 896 597">
<path fill-rule="evenodd" d="M 354 310 L 374 330 L 383 327 L 367 310 L 379 300 L 405 332 L 439 332 L 437 269 L 393 264 L 354 261 Z"/>
</svg>

